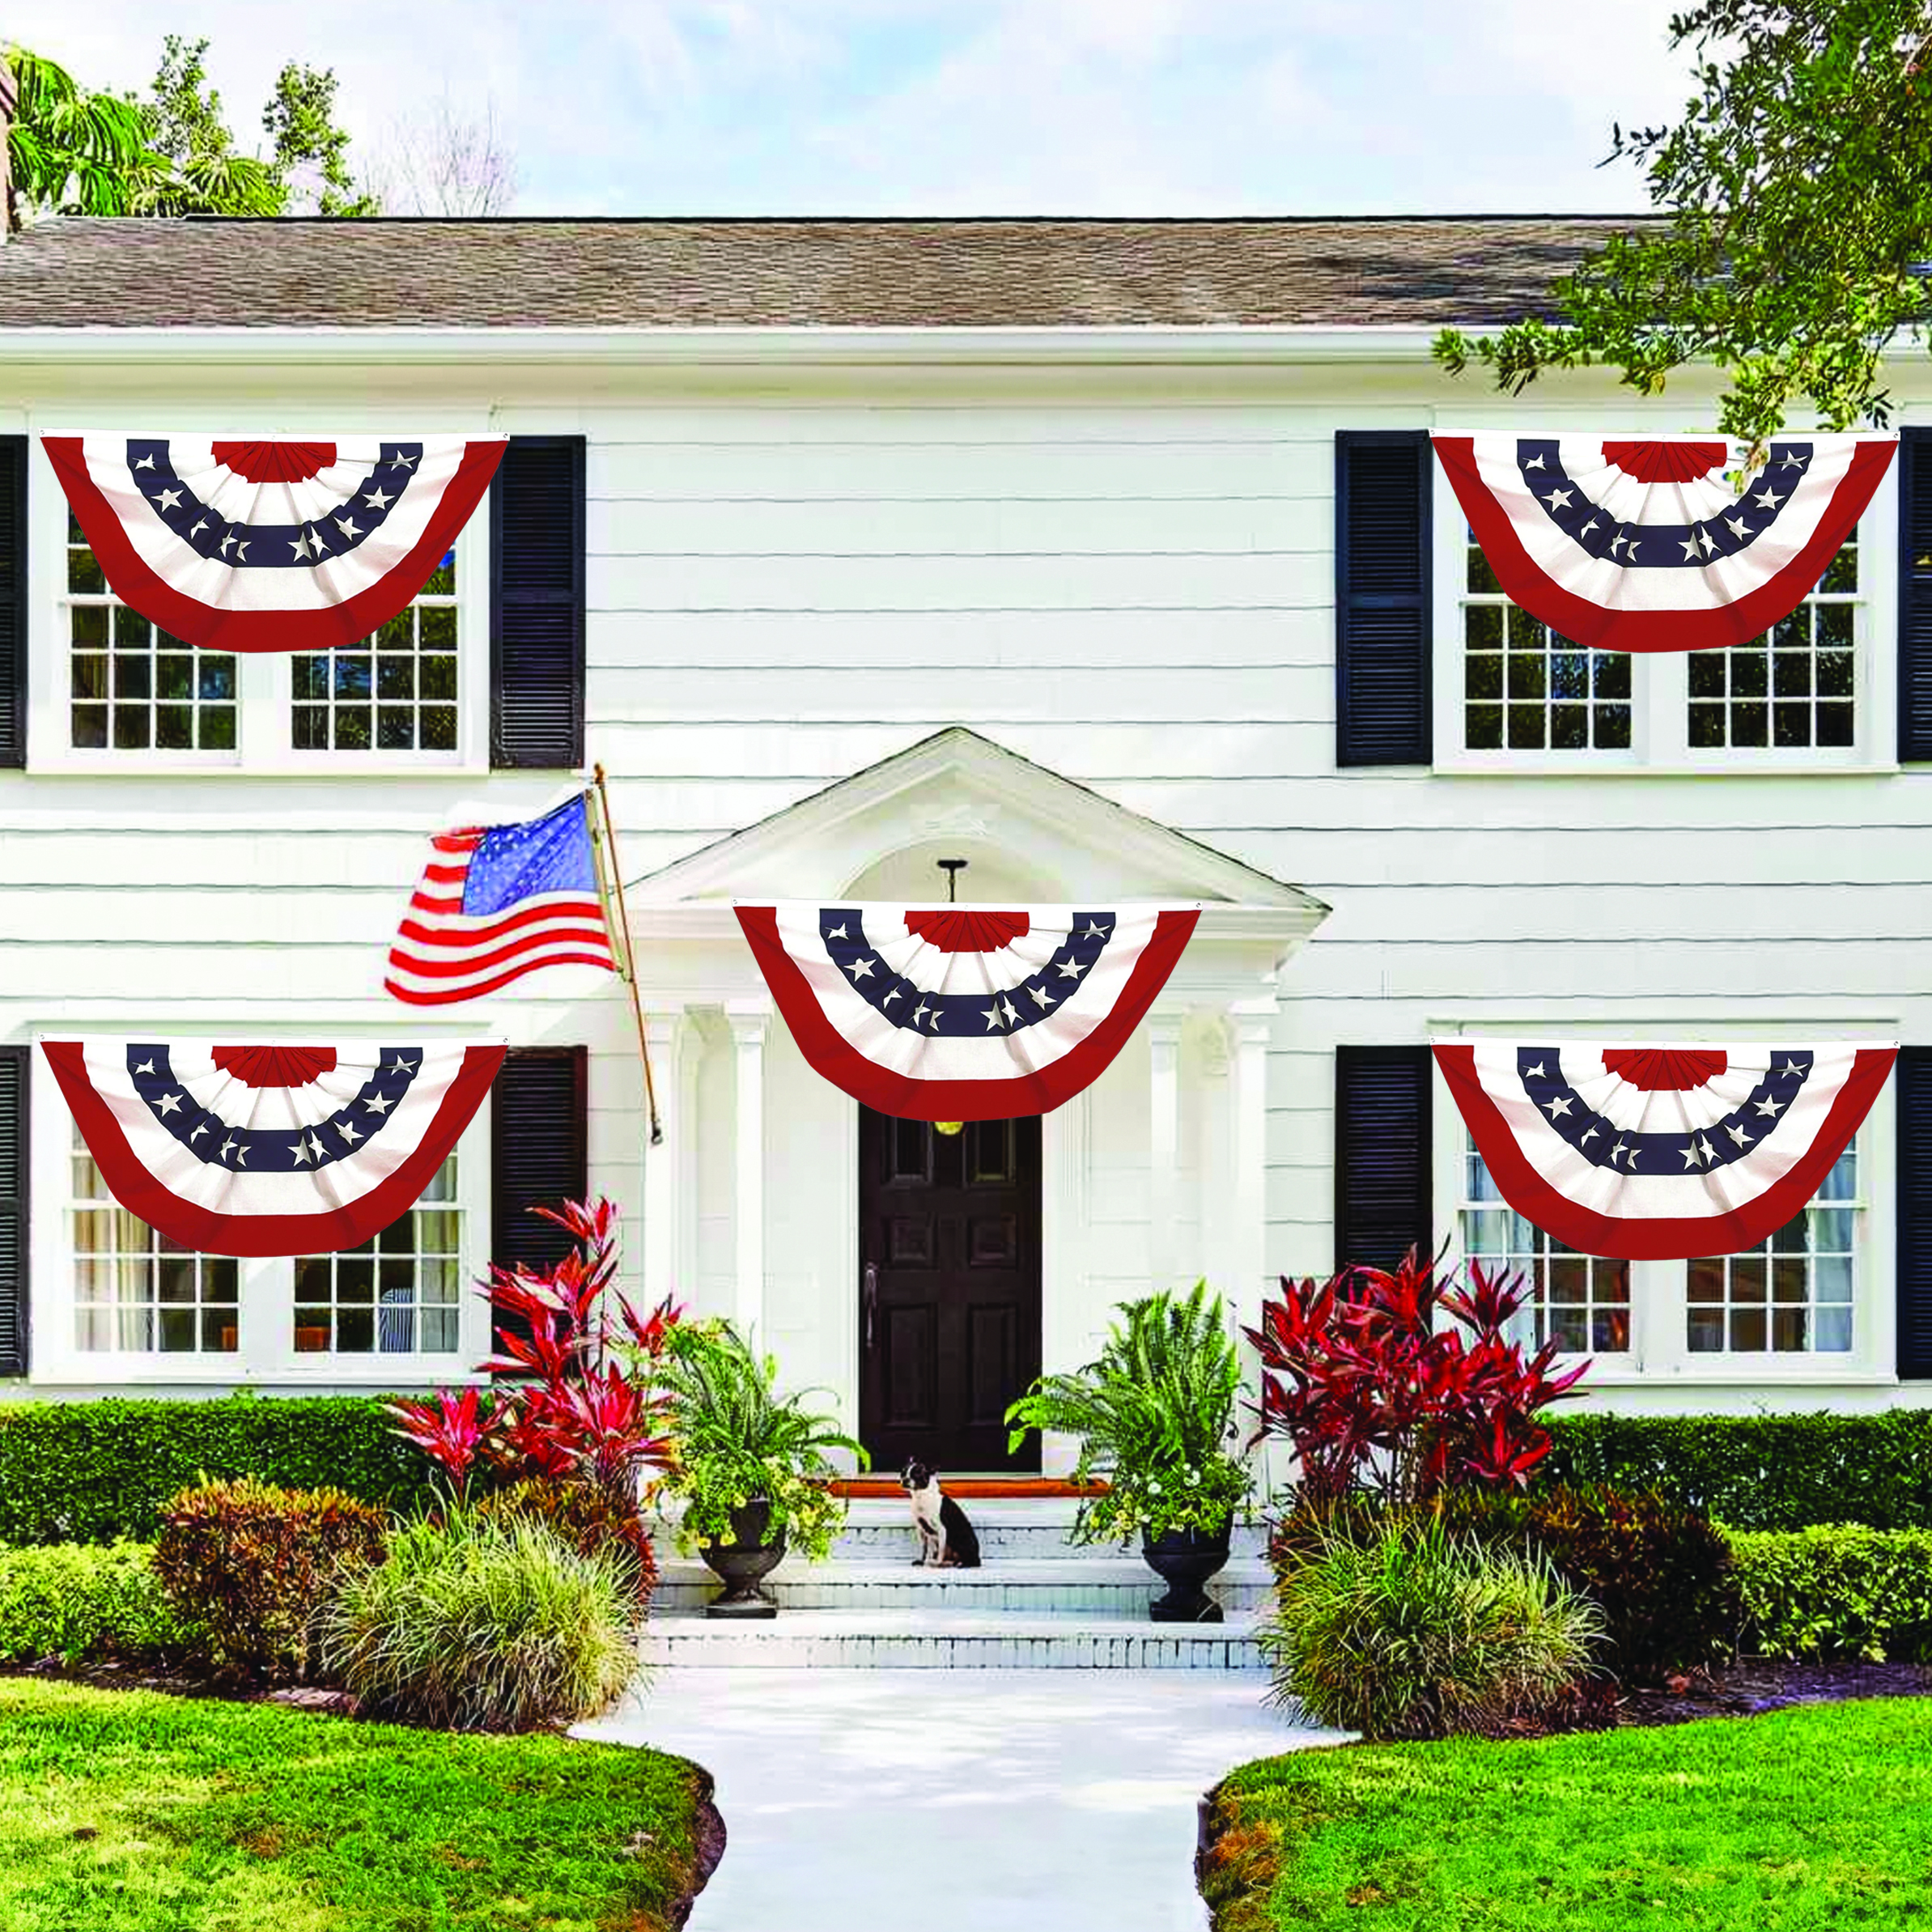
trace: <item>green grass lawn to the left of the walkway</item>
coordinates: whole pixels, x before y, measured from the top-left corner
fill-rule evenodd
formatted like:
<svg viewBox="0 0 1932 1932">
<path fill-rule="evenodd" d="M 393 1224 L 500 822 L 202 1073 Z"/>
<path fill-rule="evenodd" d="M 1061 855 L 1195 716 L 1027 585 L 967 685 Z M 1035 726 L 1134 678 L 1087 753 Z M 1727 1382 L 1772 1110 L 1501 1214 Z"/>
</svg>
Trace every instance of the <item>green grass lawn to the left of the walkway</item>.
<svg viewBox="0 0 1932 1932">
<path fill-rule="evenodd" d="M 657 1932 L 682 1758 L 0 1679 L 6 1932 Z"/>
</svg>

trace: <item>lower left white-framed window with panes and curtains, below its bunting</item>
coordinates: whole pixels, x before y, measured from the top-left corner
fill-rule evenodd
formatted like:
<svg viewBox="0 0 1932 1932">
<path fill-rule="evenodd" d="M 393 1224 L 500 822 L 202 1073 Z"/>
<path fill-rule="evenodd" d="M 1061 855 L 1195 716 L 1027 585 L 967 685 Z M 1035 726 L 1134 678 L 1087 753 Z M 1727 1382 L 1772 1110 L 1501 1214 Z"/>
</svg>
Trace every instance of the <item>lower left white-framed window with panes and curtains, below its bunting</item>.
<svg viewBox="0 0 1932 1932">
<path fill-rule="evenodd" d="M 491 1350 L 489 1107 L 417 1204 L 342 1254 L 197 1254 L 108 1194 L 35 1053 L 33 1381 L 471 1381 Z"/>
</svg>

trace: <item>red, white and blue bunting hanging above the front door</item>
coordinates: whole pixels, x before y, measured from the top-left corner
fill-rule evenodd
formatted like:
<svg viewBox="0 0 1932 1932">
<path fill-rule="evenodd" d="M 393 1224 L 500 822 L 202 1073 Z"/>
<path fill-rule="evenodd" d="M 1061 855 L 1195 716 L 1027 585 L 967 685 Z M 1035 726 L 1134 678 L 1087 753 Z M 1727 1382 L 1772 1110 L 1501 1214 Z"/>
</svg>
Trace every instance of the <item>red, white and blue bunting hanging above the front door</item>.
<svg viewBox="0 0 1932 1932">
<path fill-rule="evenodd" d="M 908 1121 L 1005 1121 L 1072 1099 L 1140 1024 L 1198 918 L 1198 906 L 738 906 L 806 1059 Z"/>
</svg>

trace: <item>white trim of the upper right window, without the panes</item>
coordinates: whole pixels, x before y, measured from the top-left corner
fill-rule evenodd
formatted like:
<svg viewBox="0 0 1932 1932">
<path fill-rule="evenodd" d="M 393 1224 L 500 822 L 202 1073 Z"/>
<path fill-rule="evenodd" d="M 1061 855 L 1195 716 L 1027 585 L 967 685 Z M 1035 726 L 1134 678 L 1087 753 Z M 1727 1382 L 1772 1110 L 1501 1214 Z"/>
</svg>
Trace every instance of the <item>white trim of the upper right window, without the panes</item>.
<svg viewBox="0 0 1932 1932">
<path fill-rule="evenodd" d="M 1457 425 L 1464 427 L 1464 425 Z M 1430 549 L 1437 647 L 1432 692 L 1439 777 L 1704 777 L 1714 771 L 1774 777 L 1889 773 L 1897 761 L 1899 585 L 1893 568 L 1899 518 L 1899 466 L 1893 462 L 1859 520 L 1859 595 L 1853 603 L 1853 690 L 1859 696 L 1853 744 L 1694 750 L 1689 742 L 1689 651 L 1638 651 L 1631 663 L 1629 752 L 1470 752 L 1463 746 L 1463 572 L 1468 520 L 1455 491 L 1434 493 Z"/>
</svg>

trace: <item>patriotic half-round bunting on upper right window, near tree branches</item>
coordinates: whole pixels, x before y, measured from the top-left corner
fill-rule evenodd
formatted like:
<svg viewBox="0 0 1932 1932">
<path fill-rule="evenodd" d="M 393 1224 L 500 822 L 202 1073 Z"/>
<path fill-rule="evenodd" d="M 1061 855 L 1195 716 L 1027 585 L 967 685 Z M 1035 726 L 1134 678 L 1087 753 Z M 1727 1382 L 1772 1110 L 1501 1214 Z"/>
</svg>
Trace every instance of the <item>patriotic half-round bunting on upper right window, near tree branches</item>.
<svg viewBox="0 0 1932 1932">
<path fill-rule="evenodd" d="M 1764 636 L 1816 589 L 1897 440 L 1789 437 L 1737 493 L 1725 471 L 1743 458 L 1716 439 L 1434 439 L 1495 582 L 1598 651 Z"/>
</svg>

